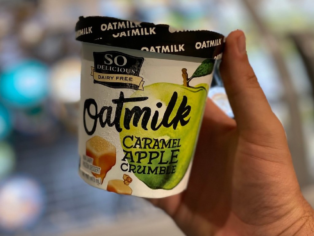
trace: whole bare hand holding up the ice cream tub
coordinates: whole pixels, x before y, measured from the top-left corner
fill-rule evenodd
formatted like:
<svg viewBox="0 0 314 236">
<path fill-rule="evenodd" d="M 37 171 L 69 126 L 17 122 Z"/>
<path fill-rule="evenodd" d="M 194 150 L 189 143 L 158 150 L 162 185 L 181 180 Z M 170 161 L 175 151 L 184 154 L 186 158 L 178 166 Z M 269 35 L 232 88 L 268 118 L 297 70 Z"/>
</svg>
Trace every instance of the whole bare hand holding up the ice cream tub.
<svg viewBox="0 0 314 236">
<path fill-rule="evenodd" d="M 283 126 L 246 55 L 245 36 L 226 38 L 220 72 L 235 120 L 209 99 L 186 191 L 150 201 L 187 235 L 314 235 Z"/>
</svg>

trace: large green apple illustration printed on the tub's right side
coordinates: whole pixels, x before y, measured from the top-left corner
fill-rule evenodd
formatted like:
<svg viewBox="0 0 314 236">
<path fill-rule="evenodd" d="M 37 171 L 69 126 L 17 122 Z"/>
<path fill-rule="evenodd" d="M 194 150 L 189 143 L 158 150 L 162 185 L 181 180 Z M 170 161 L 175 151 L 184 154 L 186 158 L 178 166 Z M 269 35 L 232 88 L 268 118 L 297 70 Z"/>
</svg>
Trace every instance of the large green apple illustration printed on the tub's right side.
<svg viewBox="0 0 314 236">
<path fill-rule="evenodd" d="M 183 79 L 187 77 L 186 72 L 186 69 L 182 69 Z M 207 75 L 208 69 L 200 73 Z M 194 75 L 196 75 L 194 77 L 200 77 L 200 74 L 194 73 Z M 147 100 L 137 102 L 136 105 L 141 109 L 149 107 L 151 114 L 149 121 L 145 121 L 148 123 L 144 128 L 141 122 L 143 122 L 145 112 L 137 122 L 134 122 L 133 116 L 129 129 L 123 129 L 120 132 L 125 154 L 122 161 L 126 163 L 123 167 L 124 171 L 133 172 L 138 179 L 152 189 L 176 187 L 184 177 L 194 155 L 208 87 L 208 84 L 190 87 L 187 84 L 154 83 L 144 87 L 144 91 L 133 93 L 131 98 L 148 97 Z M 170 105 L 172 110 L 169 115 L 170 101 L 172 101 Z M 175 101 L 174 105 L 173 101 Z M 177 125 L 171 125 L 170 121 L 176 117 L 182 104 L 186 108 L 183 114 L 185 118 Z M 130 111 L 134 106 L 133 102 L 124 104 L 121 123 L 126 110 Z M 170 125 L 160 125 L 158 129 L 152 128 L 156 127 L 151 126 L 152 122 L 157 125 L 163 123 L 165 113 L 169 116 Z"/>
</svg>

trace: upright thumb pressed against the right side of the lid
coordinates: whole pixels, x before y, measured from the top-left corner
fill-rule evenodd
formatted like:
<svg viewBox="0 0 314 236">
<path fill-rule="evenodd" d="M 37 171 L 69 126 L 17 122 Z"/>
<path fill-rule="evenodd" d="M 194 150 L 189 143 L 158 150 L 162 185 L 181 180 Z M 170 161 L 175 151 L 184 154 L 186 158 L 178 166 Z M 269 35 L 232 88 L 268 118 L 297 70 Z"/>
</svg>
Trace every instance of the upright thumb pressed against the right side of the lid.
<svg viewBox="0 0 314 236">
<path fill-rule="evenodd" d="M 245 35 L 240 30 L 231 32 L 226 38 L 220 74 L 240 132 L 252 135 L 252 131 L 257 134 L 278 125 L 249 64 Z"/>
</svg>

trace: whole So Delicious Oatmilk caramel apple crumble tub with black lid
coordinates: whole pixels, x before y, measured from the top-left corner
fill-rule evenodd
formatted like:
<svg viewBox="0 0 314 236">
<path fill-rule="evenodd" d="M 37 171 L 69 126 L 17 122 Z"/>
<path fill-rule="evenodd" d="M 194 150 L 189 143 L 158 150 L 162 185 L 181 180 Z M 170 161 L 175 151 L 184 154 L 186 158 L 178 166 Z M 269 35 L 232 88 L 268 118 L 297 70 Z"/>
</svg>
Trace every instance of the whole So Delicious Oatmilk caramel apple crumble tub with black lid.
<svg viewBox="0 0 314 236">
<path fill-rule="evenodd" d="M 182 192 L 224 36 L 80 17 L 79 175 L 118 194 Z"/>
</svg>

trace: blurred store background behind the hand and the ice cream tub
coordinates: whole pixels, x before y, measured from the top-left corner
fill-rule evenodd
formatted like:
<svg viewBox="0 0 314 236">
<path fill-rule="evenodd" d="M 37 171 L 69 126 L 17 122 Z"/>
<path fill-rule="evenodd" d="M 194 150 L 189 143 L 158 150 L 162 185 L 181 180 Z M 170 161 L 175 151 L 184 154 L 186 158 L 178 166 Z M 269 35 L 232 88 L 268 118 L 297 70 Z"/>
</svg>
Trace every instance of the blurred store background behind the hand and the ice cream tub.
<svg viewBox="0 0 314 236">
<path fill-rule="evenodd" d="M 80 15 L 245 31 L 314 205 L 312 0 L 0 0 L 0 235 L 183 235 L 145 200 L 78 177 Z M 224 93 L 215 76 L 208 96 L 232 116 Z"/>
</svg>

